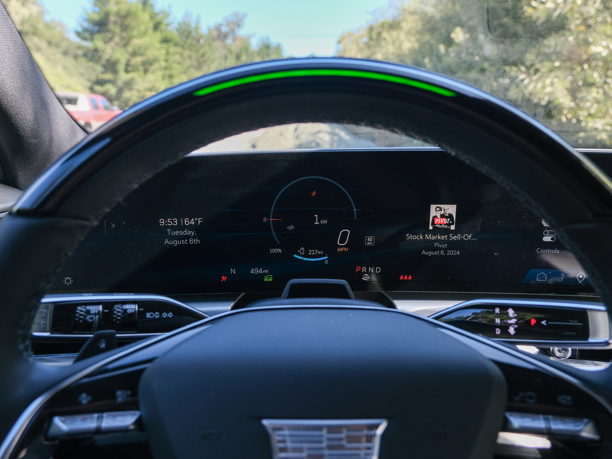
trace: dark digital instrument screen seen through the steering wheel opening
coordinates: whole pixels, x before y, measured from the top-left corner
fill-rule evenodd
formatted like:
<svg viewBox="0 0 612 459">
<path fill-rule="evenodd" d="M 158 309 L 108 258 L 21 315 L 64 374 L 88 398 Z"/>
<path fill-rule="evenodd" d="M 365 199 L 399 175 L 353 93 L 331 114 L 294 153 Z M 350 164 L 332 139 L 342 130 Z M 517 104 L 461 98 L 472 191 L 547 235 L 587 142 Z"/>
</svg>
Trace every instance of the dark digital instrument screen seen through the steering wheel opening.
<svg viewBox="0 0 612 459">
<path fill-rule="evenodd" d="M 433 149 L 190 155 L 106 215 L 52 289 L 282 291 L 293 278 L 592 291 L 555 228 Z"/>
</svg>

